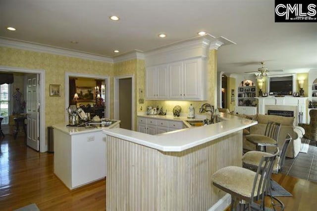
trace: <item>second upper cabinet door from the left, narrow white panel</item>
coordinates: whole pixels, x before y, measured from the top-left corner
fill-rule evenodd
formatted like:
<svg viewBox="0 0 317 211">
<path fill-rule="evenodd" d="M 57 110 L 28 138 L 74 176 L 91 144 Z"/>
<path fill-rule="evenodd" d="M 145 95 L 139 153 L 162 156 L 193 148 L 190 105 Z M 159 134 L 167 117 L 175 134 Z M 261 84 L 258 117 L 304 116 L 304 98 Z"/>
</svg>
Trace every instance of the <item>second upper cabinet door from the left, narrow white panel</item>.
<svg viewBox="0 0 317 211">
<path fill-rule="evenodd" d="M 168 72 L 167 72 L 167 65 L 161 65 L 157 67 L 157 91 L 156 91 L 156 97 L 157 98 L 162 98 L 162 99 L 167 99 L 168 98 Z"/>
</svg>

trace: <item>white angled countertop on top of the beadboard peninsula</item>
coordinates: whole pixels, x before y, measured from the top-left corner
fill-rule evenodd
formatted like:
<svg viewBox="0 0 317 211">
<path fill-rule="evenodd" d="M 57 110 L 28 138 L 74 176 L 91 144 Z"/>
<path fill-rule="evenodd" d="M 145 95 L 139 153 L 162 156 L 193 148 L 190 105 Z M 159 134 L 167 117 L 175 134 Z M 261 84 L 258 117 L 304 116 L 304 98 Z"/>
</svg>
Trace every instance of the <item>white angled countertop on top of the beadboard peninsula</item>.
<svg viewBox="0 0 317 211">
<path fill-rule="evenodd" d="M 216 138 L 228 135 L 246 127 L 258 124 L 256 121 L 240 118 L 226 113 L 219 113 L 222 122 L 202 126 L 179 129 L 171 132 L 166 132 L 161 135 L 149 135 L 137 131 L 113 128 L 104 130 L 106 135 L 114 136 L 124 140 L 128 140 L 147 147 L 158 149 L 164 152 L 181 152 L 186 149 L 204 144 Z M 139 115 L 138 115 L 139 116 Z M 154 115 L 158 116 L 158 115 Z M 151 115 L 147 115 L 151 117 Z M 159 116 L 161 118 L 164 116 Z M 167 116 L 165 119 L 168 118 Z M 181 118 L 179 121 L 183 121 Z M 169 119 L 170 120 L 170 119 Z M 177 120 L 174 119 L 173 120 Z M 193 119 L 191 119 L 193 120 Z"/>
</svg>

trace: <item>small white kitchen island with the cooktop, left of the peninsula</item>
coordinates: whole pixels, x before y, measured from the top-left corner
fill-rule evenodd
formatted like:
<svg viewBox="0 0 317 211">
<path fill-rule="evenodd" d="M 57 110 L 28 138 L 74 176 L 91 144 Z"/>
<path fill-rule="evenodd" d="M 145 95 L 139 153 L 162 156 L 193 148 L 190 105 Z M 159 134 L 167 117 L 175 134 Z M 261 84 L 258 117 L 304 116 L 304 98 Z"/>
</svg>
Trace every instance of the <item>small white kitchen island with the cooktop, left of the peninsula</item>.
<svg viewBox="0 0 317 211">
<path fill-rule="evenodd" d="M 104 129 L 116 128 L 120 121 L 108 127 L 54 128 L 54 174 L 69 189 L 74 189 L 106 176 L 106 140 Z"/>
</svg>

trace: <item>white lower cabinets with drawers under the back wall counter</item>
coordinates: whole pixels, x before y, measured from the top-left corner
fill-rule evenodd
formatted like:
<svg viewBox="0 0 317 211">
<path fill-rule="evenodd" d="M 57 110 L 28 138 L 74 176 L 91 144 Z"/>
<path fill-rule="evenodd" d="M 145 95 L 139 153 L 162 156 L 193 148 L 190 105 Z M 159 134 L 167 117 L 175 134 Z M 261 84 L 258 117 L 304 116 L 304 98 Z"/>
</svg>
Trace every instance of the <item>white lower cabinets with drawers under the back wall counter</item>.
<svg viewBox="0 0 317 211">
<path fill-rule="evenodd" d="M 156 135 L 168 131 L 183 128 L 183 122 L 172 120 L 160 120 L 147 117 L 138 117 L 138 131 Z"/>
</svg>

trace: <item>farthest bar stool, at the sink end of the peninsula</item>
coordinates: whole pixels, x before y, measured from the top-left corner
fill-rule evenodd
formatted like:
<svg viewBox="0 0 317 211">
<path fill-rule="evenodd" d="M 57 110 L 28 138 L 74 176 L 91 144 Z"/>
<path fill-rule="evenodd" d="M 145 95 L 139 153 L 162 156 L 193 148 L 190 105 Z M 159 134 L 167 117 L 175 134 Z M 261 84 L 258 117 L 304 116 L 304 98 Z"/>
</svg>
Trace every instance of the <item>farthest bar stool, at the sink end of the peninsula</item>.
<svg viewBox="0 0 317 211">
<path fill-rule="evenodd" d="M 281 125 L 276 122 L 268 122 L 264 135 L 250 134 L 245 137 L 248 141 L 257 145 L 257 150 L 265 152 L 267 146 L 277 146 Z"/>
</svg>

